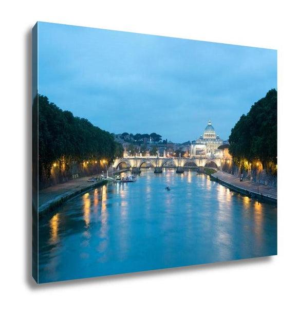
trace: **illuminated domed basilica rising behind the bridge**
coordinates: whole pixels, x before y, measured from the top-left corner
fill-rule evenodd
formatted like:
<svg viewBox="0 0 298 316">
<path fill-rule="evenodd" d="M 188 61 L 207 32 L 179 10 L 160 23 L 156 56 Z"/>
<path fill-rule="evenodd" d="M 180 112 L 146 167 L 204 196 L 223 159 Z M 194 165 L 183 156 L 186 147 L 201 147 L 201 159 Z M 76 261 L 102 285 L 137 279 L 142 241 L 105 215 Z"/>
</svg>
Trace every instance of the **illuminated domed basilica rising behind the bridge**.
<svg viewBox="0 0 298 316">
<path fill-rule="evenodd" d="M 218 147 L 222 143 L 222 139 L 216 135 L 215 129 L 211 125 L 211 121 L 209 121 L 203 135 L 191 144 L 190 157 L 220 157 L 222 151 L 218 150 Z"/>
</svg>

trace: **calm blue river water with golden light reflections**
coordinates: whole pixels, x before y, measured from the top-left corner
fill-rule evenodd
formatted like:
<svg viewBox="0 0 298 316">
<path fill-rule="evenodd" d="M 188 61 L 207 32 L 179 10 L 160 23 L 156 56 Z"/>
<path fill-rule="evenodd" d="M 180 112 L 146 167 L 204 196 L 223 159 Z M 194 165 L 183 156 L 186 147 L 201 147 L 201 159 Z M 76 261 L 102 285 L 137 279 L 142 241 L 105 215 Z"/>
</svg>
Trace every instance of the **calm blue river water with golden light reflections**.
<svg viewBox="0 0 298 316">
<path fill-rule="evenodd" d="M 274 255 L 276 211 L 206 175 L 143 170 L 40 220 L 39 282 Z"/>
</svg>

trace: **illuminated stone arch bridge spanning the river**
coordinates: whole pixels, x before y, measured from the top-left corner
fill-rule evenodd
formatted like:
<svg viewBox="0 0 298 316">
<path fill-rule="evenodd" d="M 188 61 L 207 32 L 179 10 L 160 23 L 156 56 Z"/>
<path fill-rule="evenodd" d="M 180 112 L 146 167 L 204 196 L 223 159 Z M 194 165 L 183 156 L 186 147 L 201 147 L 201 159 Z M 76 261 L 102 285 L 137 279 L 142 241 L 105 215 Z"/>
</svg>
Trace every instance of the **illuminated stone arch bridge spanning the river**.
<svg viewBox="0 0 298 316">
<path fill-rule="evenodd" d="M 227 158 L 180 158 L 180 157 L 158 157 L 158 156 L 148 156 L 148 157 L 124 157 L 117 158 L 113 163 L 113 168 L 119 169 L 119 166 L 122 163 L 125 163 L 126 166 L 134 169 L 140 169 L 143 164 L 151 164 L 155 169 L 161 169 L 165 165 L 171 165 L 176 168 L 188 168 L 194 166 L 196 168 L 217 168 L 221 169 L 221 164 Z"/>
</svg>

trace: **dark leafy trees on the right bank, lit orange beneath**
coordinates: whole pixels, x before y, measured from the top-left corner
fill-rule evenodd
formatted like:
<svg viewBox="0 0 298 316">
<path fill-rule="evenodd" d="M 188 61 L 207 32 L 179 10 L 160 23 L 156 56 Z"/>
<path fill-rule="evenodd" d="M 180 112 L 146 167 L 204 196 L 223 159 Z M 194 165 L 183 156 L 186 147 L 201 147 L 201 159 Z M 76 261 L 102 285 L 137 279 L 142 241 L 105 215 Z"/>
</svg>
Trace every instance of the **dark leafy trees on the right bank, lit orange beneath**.
<svg viewBox="0 0 298 316">
<path fill-rule="evenodd" d="M 230 154 L 234 162 L 245 168 L 249 163 L 262 162 L 267 170 L 277 168 L 277 91 L 252 105 L 249 113 L 240 117 L 229 137 Z"/>
</svg>

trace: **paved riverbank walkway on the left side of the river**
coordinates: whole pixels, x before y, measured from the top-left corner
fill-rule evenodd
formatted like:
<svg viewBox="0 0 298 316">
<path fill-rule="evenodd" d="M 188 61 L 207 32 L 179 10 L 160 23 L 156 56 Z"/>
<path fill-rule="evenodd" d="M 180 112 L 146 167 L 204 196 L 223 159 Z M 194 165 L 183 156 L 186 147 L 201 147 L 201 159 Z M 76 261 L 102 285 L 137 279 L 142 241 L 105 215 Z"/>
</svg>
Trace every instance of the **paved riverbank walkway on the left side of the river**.
<svg viewBox="0 0 298 316">
<path fill-rule="evenodd" d="M 60 205 L 67 199 L 98 187 L 107 181 L 106 179 L 103 179 L 96 182 L 88 182 L 87 180 L 89 178 L 90 176 L 73 179 L 68 182 L 52 185 L 52 187 L 40 190 L 39 214 L 45 213 L 55 206 Z"/>
</svg>

